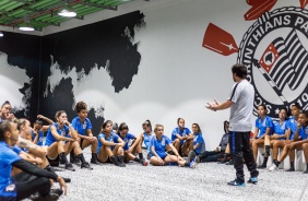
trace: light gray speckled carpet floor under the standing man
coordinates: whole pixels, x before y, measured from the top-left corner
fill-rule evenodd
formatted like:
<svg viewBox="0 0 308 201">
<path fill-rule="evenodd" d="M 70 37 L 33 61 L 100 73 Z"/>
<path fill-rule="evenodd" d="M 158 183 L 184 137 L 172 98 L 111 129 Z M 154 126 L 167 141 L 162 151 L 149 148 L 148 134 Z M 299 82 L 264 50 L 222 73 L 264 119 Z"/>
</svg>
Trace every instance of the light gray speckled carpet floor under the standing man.
<svg viewBox="0 0 308 201">
<path fill-rule="evenodd" d="M 88 149 L 84 155 L 90 161 Z M 133 162 L 125 168 L 111 164 L 92 166 L 93 170 L 74 165 L 75 172 L 57 172 L 72 179 L 68 196 L 60 200 L 308 200 L 308 175 L 300 172 L 260 170 L 258 185 L 230 187 L 226 182 L 235 178 L 235 169 L 216 163 L 202 163 L 196 169 L 144 167 Z M 249 172 L 245 173 L 247 180 Z"/>
</svg>

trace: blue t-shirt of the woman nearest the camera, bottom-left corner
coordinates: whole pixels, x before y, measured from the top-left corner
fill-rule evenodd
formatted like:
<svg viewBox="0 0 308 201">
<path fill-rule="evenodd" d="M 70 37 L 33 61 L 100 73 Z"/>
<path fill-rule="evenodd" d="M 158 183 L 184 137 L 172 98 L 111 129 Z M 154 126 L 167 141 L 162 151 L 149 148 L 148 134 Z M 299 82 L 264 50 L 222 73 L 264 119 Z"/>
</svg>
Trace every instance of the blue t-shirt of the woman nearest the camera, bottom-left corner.
<svg viewBox="0 0 308 201">
<path fill-rule="evenodd" d="M 17 155 L 15 151 L 10 149 L 4 141 L 1 141 L 0 158 L 1 158 L 0 159 L 0 200 L 2 200 L 1 198 L 8 198 L 8 197 L 14 198 L 16 197 L 16 189 L 12 188 L 11 191 L 7 191 L 7 189 L 9 188 L 8 186 L 13 184 L 11 179 L 12 164 L 21 159 L 21 157 Z"/>
</svg>

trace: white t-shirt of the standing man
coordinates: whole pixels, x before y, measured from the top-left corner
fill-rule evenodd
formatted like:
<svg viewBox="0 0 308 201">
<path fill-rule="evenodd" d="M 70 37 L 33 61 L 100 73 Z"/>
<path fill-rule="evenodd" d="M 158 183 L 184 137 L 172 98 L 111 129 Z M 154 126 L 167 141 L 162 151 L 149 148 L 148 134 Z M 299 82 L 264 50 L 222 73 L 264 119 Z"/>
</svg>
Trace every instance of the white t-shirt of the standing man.
<svg viewBox="0 0 308 201">
<path fill-rule="evenodd" d="M 228 99 L 233 102 L 229 130 L 238 132 L 251 131 L 251 115 L 254 100 L 253 86 L 246 79 L 235 83 Z"/>
</svg>

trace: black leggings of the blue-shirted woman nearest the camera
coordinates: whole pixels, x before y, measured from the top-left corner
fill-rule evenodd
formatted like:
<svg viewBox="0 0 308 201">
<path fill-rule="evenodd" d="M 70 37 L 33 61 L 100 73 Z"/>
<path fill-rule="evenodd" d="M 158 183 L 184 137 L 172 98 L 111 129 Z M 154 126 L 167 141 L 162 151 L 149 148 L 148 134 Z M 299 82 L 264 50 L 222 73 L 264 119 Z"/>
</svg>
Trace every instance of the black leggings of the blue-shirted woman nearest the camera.
<svg viewBox="0 0 308 201">
<path fill-rule="evenodd" d="M 46 177 L 36 177 L 27 173 L 20 173 L 13 177 L 17 198 L 16 200 L 23 200 L 31 197 L 35 192 L 38 192 L 42 197 L 46 197 L 50 192 L 50 180 Z"/>
</svg>

